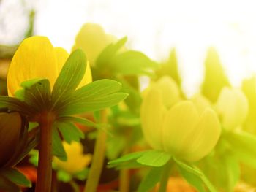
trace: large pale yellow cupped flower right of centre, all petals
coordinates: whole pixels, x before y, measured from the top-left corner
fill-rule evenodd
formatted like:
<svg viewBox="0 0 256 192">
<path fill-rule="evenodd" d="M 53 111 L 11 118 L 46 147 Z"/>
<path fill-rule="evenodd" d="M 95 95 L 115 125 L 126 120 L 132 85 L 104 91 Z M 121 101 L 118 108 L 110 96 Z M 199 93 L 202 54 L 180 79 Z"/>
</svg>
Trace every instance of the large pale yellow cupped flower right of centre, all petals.
<svg viewBox="0 0 256 192">
<path fill-rule="evenodd" d="M 165 78 L 165 81 L 168 81 Z M 167 85 L 167 83 L 165 84 Z M 169 86 L 150 86 L 141 106 L 143 134 L 151 147 L 185 161 L 198 161 L 211 152 L 221 132 L 214 110 L 197 110 L 192 101 L 173 101 Z M 171 93 L 171 92 L 170 92 Z"/>
</svg>

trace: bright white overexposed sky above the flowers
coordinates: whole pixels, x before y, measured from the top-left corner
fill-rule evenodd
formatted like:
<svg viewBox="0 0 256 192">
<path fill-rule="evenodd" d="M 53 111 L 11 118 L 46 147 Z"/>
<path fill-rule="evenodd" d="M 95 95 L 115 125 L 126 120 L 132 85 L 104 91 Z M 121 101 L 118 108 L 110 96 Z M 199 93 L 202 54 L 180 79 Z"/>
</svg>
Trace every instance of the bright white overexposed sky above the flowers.
<svg viewBox="0 0 256 192">
<path fill-rule="evenodd" d="M 158 61 L 165 60 L 171 48 L 176 47 L 184 88 L 189 94 L 200 85 L 203 61 L 210 46 L 219 51 L 233 85 L 256 72 L 254 0 L 1 1 L 0 27 L 3 15 L 10 15 L 4 20 L 9 27 L 0 31 L 1 43 L 14 43 L 22 37 L 22 33 L 17 34 L 26 28 L 20 22 L 26 23 L 26 18 L 21 15 L 34 7 L 36 34 L 48 36 L 54 46 L 67 50 L 86 22 L 99 23 L 116 37 L 128 36 L 129 47 Z M 18 2 L 25 4 L 25 8 L 18 7 Z"/>
</svg>

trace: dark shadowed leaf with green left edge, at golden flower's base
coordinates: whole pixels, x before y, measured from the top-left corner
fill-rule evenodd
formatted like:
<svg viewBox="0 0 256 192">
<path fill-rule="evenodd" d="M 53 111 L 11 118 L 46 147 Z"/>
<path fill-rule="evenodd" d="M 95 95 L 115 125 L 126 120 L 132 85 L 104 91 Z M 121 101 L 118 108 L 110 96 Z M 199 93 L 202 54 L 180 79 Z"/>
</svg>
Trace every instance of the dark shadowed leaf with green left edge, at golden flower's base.
<svg viewBox="0 0 256 192">
<path fill-rule="evenodd" d="M 46 79 L 27 80 L 21 83 L 22 89 L 15 96 L 29 105 L 31 112 L 41 112 L 50 107 L 50 82 Z"/>
</svg>

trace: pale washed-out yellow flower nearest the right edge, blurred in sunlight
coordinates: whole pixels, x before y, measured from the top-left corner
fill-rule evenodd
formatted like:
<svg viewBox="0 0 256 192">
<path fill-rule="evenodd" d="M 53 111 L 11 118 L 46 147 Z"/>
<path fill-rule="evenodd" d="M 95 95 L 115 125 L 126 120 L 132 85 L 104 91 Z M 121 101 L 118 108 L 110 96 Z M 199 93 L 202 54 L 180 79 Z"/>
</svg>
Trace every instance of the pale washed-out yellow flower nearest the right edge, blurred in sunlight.
<svg viewBox="0 0 256 192">
<path fill-rule="evenodd" d="M 248 101 L 241 90 L 235 88 L 223 88 L 219 94 L 216 110 L 222 121 L 223 128 L 233 130 L 246 119 Z"/>
</svg>

